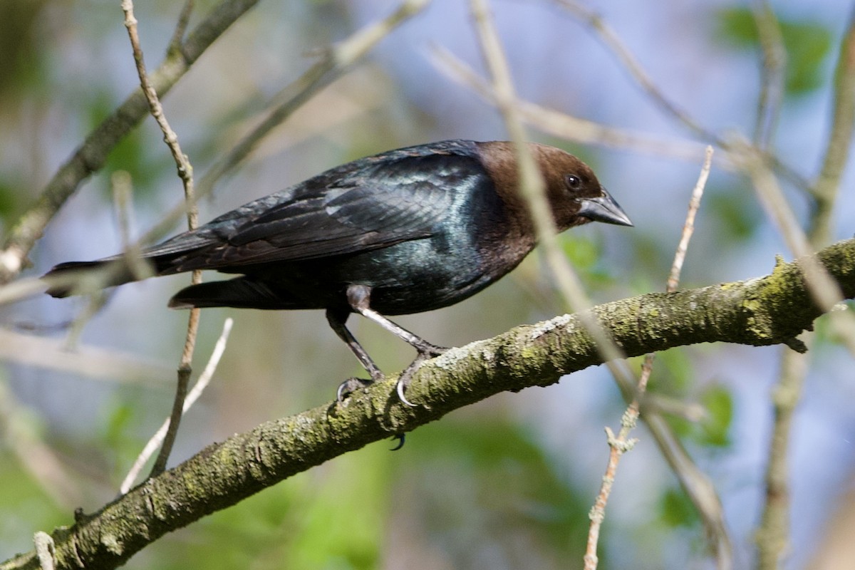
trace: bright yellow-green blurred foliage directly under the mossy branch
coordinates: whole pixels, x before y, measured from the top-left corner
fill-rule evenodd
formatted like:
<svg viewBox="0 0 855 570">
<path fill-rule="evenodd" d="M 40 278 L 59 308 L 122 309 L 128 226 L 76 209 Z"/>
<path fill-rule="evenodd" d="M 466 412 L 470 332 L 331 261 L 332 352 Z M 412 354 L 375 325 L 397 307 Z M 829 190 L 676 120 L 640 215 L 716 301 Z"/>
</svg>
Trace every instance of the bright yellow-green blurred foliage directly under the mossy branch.
<svg viewBox="0 0 855 570">
<path fill-rule="evenodd" d="M 370 445 L 213 514 L 164 541 L 156 566 L 379 567 L 398 458 L 388 447 Z"/>
</svg>

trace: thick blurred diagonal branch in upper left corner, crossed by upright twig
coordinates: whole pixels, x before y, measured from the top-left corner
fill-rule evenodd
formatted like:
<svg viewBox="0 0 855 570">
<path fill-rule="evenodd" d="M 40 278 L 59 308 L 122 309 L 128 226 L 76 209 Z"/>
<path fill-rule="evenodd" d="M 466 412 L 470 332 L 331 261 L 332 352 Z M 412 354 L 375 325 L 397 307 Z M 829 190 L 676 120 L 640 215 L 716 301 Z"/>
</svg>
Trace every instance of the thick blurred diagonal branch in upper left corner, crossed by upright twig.
<svg viewBox="0 0 855 570">
<path fill-rule="evenodd" d="M 167 93 L 192 64 L 241 15 L 258 0 L 223 0 L 187 37 L 180 50 L 170 50 L 166 60 L 151 73 L 151 85 L 161 95 Z M 24 267 L 33 244 L 62 205 L 83 180 L 103 167 L 109 152 L 139 124 L 149 112 L 142 89 L 134 91 L 112 115 L 85 138 L 68 161 L 42 190 L 38 201 L 12 228 L 0 250 L 0 284 L 8 283 Z"/>
</svg>

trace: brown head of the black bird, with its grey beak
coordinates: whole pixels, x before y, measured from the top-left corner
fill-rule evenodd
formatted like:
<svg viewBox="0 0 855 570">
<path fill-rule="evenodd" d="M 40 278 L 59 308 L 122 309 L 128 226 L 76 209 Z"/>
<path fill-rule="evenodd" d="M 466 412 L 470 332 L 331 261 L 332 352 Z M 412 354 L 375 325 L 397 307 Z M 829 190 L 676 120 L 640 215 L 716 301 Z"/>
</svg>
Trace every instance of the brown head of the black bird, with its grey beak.
<svg viewBox="0 0 855 570">
<path fill-rule="evenodd" d="M 514 144 L 496 141 L 479 146 L 482 161 L 504 202 L 511 208 L 527 211 L 517 189 L 519 175 Z M 543 175 L 546 197 L 559 232 L 591 221 L 633 225 L 587 164 L 552 146 L 529 143 L 528 147 Z"/>
</svg>

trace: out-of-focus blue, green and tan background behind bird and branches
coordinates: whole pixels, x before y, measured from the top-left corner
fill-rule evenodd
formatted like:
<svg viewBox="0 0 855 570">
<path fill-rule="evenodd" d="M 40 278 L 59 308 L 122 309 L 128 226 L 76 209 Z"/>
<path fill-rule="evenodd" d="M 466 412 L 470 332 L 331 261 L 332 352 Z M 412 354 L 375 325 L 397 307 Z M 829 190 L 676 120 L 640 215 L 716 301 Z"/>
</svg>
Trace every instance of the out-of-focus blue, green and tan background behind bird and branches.
<svg viewBox="0 0 855 570">
<path fill-rule="evenodd" d="M 197 1 L 191 27 L 213 5 Z M 752 3 L 586 5 L 688 115 L 721 136 L 752 137 L 761 85 Z M 274 95 L 309 68 L 319 50 L 397 6 L 389 0 L 262 2 L 240 19 L 164 99 L 197 176 L 257 124 Z M 652 102 L 561 3 L 495 0 L 491 6 L 523 99 L 692 152 L 707 142 Z M 788 56 L 772 147 L 793 171 L 813 179 L 828 137 L 834 65 L 852 5 L 782 0 L 771 7 Z M 150 69 L 161 61 L 179 12 L 180 3 L 167 0 L 136 6 Z M 138 85 L 122 21 L 118 2 L 0 3 L 4 234 L 86 134 Z M 507 138 L 496 109 L 437 64 L 438 50 L 486 77 L 469 3 L 434 0 L 394 30 L 221 179 L 200 203 L 200 219 L 383 150 L 446 138 Z M 575 144 L 535 128 L 529 138 L 581 156 L 634 220 L 634 228 L 591 225 L 561 237 L 593 300 L 662 291 L 700 156 Z M 792 257 L 749 181 L 724 166 L 714 158 L 683 288 L 756 277 L 771 271 L 776 254 Z M 134 236 L 180 203 L 174 162 L 149 117 L 52 220 L 25 275 L 121 249 L 109 183 L 117 171 L 133 178 Z M 834 239 L 852 236 L 850 188 L 851 169 L 835 210 Z M 787 188 L 787 197 L 806 220 L 805 193 Z M 86 366 L 73 370 L 62 353 L 38 343 L 65 343 L 68 323 L 85 311 L 85 299 L 36 297 L 0 308 L 6 347 L 0 362 L 0 560 L 31 549 L 33 532 L 71 524 L 74 508 L 91 512 L 115 497 L 171 407 L 187 314 L 167 309 L 166 302 L 188 282 L 181 275 L 116 290 L 80 332 L 76 350 Z M 565 310 L 550 273 L 533 255 L 464 303 L 398 321 L 435 344 L 455 346 Z M 264 420 L 327 403 L 342 379 L 361 373 L 320 311 L 232 309 L 203 311 L 197 371 L 228 316 L 235 322 L 225 356 L 201 402 L 185 416 L 171 465 Z M 382 369 L 399 370 L 412 358 L 410 347 L 373 324 L 353 318 L 351 325 Z M 787 568 L 818 564 L 817 556 L 832 549 L 833 527 L 855 532 L 835 523 L 855 511 L 852 358 L 826 328 L 817 321 L 793 426 Z M 735 567 L 754 561 L 780 352 L 693 346 L 660 354 L 653 373 L 652 391 L 707 409 L 705 420 L 673 424 L 722 497 Z M 492 397 L 412 432 L 403 450 L 391 453 L 391 442 L 369 445 L 169 534 L 127 567 L 581 567 L 587 514 L 608 457 L 603 428 L 616 428 L 624 408 L 603 367 L 548 388 Z M 635 435 L 640 443 L 622 461 L 608 507 L 600 567 L 713 567 L 703 528 L 674 475 L 645 429 Z"/>
</svg>

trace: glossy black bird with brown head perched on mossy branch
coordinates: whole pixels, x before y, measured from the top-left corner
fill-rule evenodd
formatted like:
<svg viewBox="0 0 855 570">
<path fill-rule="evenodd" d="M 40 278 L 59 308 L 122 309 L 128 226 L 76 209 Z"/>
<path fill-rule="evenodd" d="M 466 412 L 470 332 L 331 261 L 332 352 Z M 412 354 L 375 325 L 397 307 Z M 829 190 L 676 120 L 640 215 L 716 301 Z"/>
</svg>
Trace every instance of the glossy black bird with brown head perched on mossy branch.
<svg viewBox="0 0 855 570">
<path fill-rule="evenodd" d="M 526 144 L 558 231 L 592 221 L 633 226 L 587 164 L 553 146 Z M 385 379 L 345 326 L 354 313 L 373 320 L 416 349 L 396 387 L 411 406 L 405 389 L 412 374 L 447 349 L 388 316 L 453 305 L 516 267 L 537 241 L 518 186 L 512 142 L 420 144 L 333 167 L 138 255 L 156 276 L 197 269 L 236 275 L 181 289 L 169 300 L 174 309 L 324 309 L 370 376 L 345 380 L 339 401 Z M 43 276 L 46 292 L 78 294 L 78 278 L 99 267 L 99 286 L 139 279 L 132 261 L 121 254 L 60 263 Z"/>
</svg>

